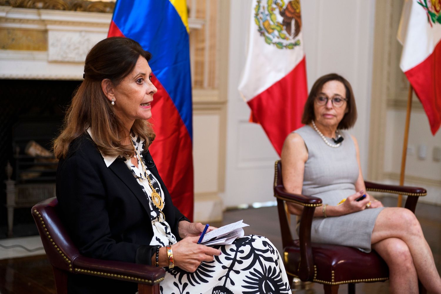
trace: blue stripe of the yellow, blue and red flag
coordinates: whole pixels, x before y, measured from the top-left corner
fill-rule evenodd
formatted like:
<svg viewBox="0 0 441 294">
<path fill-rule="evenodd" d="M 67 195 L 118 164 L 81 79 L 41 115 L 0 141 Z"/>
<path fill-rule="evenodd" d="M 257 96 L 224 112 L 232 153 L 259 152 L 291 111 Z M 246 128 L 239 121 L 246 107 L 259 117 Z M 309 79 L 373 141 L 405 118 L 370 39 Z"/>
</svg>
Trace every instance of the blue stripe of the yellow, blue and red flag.
<svg viewBox="0 0 441 294">
<path fill-rule="evenodd" d="M 152 53 L 149 66 L 193 138 L 188 33 L 175 7 L 169 0 L 118 0 L 113 22 Z"/>
</svg>

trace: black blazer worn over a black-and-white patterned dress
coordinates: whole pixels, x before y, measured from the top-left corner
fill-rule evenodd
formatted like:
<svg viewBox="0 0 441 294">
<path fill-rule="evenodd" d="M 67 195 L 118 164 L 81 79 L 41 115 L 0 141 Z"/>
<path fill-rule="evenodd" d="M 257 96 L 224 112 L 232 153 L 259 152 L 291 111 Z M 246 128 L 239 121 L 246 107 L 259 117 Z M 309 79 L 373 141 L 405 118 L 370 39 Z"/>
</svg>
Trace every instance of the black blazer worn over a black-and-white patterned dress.
<svg viewBox="0 0 441 294">
<path fill-rule="evenodd" d="M 173 205 L 150 153 L 143 157 L 161 184 L 165 219 L 179 241 L 178 223 L 187 218 Z M 106 166 L 89 134 L 72 141 L 66 158 L 60 160 L 56 197 L 64 224 L 82 255 L 151 264 L 156 246 L 149 246 L 153 229 L 148 199 L 121 158 Z M 136 291 L 135 283 L 100 277 L 75 274 L 68 281 L 69 293 L 105 293 L 101 286 L 112 293 L 117 289 L 121 293 Z"/>
</svg>

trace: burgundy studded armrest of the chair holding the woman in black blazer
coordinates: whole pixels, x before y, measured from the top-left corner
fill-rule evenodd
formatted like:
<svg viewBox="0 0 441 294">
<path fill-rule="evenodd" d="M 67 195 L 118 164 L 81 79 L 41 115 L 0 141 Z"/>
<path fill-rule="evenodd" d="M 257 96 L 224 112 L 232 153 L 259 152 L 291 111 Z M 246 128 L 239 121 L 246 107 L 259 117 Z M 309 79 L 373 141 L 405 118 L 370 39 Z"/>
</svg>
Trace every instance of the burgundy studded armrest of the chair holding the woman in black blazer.
<svg viewBox="0 0 441 294">
<path fill-rule="evenodd" d="M 152 265 L 108 261 L 84 256 L 76 257 L 72 261 L 72 267 L 73 271 L 78 274 L 98 275 L 147 285 L 158 284 L 165 276 L 163 268 Z"/>
</svg>

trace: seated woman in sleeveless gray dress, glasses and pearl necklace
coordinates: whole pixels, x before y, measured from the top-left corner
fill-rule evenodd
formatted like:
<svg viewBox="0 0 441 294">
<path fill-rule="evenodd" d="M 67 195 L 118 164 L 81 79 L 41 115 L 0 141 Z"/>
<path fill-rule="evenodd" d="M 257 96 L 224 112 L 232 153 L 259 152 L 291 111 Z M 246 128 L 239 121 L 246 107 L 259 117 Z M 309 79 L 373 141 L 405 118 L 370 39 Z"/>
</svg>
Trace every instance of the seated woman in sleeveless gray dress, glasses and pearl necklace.
<svg viewBox="0 0 441 294">
<path fill-rule="evenodd" d="M 441 278 L 415 215 L 406 208 L 385 208 L 365 192 L 357 140 L 344 131 L 356 119 L 349 82 L 338 74 L 319 78 L 305 104 L 305 126 L 284 142 L 284 186 L 323 200 L 314 212 L 312 242 L 374 249 L 389 266 L 391 293 L 418 293 L 418 278 L 430 293 L 441 293 Z M 293 203 L 288 209 L 302 212 Z"/>
</svg>

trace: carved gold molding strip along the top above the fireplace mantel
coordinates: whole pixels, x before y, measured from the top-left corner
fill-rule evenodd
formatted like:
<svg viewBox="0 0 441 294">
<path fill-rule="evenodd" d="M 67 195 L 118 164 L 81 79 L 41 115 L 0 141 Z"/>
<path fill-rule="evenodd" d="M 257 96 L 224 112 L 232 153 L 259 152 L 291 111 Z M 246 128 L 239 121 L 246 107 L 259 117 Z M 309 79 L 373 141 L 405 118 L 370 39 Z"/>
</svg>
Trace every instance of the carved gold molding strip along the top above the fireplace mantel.
<svg viewBox="0 0 441 294">
<path fill-rule="evenodd" d="M 115 2 L 87 0 L 0 0 L 0 5 L 19 8 L 112 13 Z"/>
</svg>

